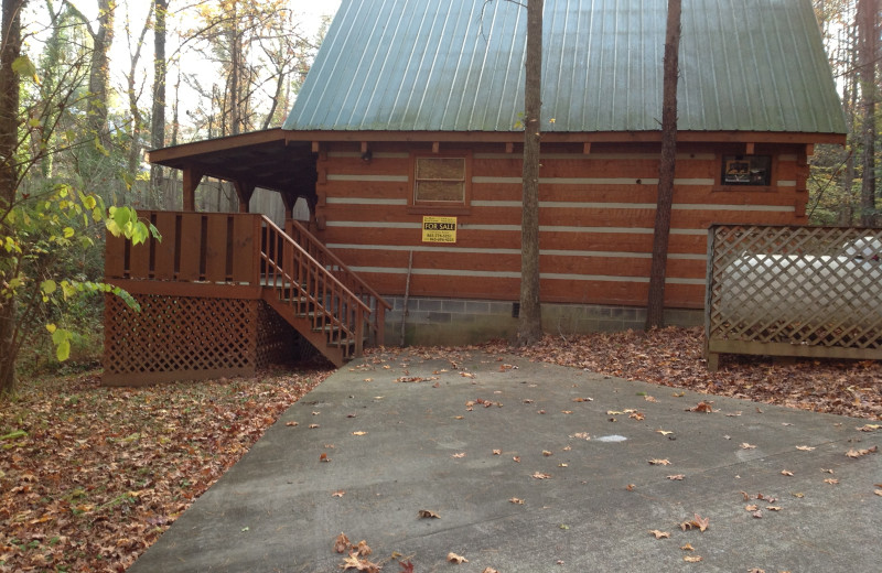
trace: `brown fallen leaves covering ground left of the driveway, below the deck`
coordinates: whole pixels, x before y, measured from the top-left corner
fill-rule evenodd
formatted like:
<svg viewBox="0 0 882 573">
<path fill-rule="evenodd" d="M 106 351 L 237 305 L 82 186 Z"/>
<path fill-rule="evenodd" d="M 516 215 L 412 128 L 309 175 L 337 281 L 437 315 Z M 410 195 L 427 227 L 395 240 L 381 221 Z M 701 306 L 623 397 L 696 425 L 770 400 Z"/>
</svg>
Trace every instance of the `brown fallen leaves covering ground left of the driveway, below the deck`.
<svg viewBox="0 0 882 573">
<path fill-rule="evenodd" d="M 0 404 L 0 435 L 18 435 L 0 455 L 0 570 L 121 571 L 330 372 L 22 380 Z"/>
</svg>

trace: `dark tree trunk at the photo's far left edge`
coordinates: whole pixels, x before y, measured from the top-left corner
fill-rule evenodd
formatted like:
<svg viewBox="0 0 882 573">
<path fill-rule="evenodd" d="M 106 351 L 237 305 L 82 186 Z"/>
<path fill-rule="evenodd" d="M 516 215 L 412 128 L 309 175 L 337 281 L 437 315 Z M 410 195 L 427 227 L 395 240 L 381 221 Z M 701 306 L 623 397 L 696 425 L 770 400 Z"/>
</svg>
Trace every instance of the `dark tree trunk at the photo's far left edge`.
<svg viewBox="0 0 882 573">
<path fill-rule="evenodd" d="M 28 0 L 2 0 L 2 44 L 0 44 L 0 236 L 11 235 L 6 214 L 15 201 L 19 186 L 19 166 L 15 151 L 19 133 L 19 75 L 12 64 L 21 54 L 21 12 Z M 14 261 L 6 249 L 0 249 L 0 281 L 6 283 L 13 277 Z M 6 291 L 6 289 L 2 289 Z M 7 292 L 2 292 L 7 294 Z M 0 396 L 15 388 L 15 299 L 0 298 Z"/>
</svg>

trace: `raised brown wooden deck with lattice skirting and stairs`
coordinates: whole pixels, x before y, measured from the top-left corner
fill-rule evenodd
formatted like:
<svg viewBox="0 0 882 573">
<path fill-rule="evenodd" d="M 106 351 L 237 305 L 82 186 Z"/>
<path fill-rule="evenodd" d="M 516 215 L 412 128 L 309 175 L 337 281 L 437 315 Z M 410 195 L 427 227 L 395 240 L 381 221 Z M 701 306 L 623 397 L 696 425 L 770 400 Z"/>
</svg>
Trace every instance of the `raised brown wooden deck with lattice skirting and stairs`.
<svg viewBox="0 0 882 573">
<path fill-rule="evenodd" d="M 162 240 L 107 238 L 104 382 L 250 376 L 293 332 L 341 366 L 383 339 L 389 305 L 304 227 L 256 214 L 147 212 Z M 292 237 L 293 235 L 293 237 Z"/>
</svg>

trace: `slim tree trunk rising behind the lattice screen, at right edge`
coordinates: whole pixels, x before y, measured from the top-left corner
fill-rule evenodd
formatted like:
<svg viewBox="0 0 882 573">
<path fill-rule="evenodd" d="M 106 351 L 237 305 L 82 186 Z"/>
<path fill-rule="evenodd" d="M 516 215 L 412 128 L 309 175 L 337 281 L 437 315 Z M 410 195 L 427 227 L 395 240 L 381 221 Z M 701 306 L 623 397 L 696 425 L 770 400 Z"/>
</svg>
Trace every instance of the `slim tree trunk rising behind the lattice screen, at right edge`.
<svg viewBox="0 0 882 573">
<path fill-rule="evenodd" d="M 861 225 L 875 223 L 875 44 L 878 0 L 858 0 L 858 61 L 861 89 Z"/>
</svg>

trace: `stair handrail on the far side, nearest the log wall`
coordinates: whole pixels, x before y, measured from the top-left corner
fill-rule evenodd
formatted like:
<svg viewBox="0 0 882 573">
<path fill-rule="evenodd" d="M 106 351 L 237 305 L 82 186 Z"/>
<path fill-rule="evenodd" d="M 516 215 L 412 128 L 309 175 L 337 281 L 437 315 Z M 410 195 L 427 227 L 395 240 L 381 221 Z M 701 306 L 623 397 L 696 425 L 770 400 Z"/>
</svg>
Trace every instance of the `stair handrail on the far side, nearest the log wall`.
<svg viewBox="0 0 882 573">
<path fill-rule="evenodd" d="M 325 247 L 324 244 L 316 239 L 303 225 L 297 220 L 289 220 L 286 224 L 286 231 L 310 255 L 310 257 L 319 261 L 319 263 L 336 277 L 344 286 L 355 293 L 362 302 L 372 309 L 370 342 L 372 344 L 383 344 L 386 311 L 390 310 L 391 305 L 386 302 L 383 296 L 377 294 L 377 291 L 365 282 L 364 279 L 351 271 L 340 257 L 334 255 L 334 251 Z"/>
</svg>

